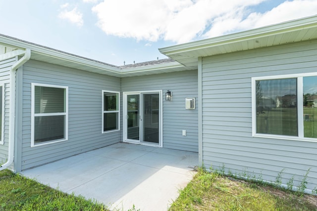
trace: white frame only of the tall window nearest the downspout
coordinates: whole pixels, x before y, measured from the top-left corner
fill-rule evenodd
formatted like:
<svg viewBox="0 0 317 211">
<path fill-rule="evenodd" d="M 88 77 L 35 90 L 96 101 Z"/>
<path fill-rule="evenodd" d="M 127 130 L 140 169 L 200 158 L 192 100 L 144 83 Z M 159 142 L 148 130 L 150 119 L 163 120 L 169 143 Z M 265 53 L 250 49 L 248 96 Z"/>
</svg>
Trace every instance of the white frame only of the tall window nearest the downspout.
<svg viewBox="0 0 317 211">
<path fill-rule="evenodd" d="M 45 114 L 35 114 L 35 86 L 43 86 L 43 87 L 53 87 L 53 88 L 63 88 L 65 89 L 65 112 L 63 113 L 45 113 Z M 34 121 L 35 117 L 43 117 L 43 116 L 61 116 L 65 115 L 65 138 L 47 141 L 44 143 L 34 143 Z M 68 86 L 61 85 L 52 85 L 52 84 L 37 84 L 31 83 L 31 147 L 43 146 L 47 144 L 53 144 L 61 141 L 68 140 Z"/>
</svg>

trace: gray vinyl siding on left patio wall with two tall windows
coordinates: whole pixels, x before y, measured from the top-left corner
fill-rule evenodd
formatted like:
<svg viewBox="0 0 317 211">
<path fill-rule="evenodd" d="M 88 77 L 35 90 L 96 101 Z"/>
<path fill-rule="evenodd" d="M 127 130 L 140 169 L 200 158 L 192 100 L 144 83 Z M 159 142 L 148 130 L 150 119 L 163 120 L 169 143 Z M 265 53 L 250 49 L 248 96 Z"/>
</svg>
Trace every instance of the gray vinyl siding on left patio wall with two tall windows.
<svg viewBox="0 0 317 211">
<path fill-rule="evenodd" d="M 31 83 L 68 86 L 68 140 L 31 147 Z M 102 133 L 102 90 L 120 91 L 120 79 L 30 60 L 23 65 L 21 170 L 121 140 Z"/>
</svg>

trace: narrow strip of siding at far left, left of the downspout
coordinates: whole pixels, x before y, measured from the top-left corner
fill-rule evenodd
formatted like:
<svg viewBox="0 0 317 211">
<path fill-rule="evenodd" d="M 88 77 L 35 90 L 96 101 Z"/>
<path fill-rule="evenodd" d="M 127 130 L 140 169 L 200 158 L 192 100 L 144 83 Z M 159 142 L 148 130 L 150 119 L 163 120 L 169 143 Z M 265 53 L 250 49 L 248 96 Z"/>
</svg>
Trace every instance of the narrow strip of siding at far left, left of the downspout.
<svg viewBox="0 0 317 211">
<path fill-rule="evenodd" d="M 4 89 L 4 131 L 3 144 L 0 144 L 0 164 L 8 159 L 8 141 L 9 141 L 9 108 L 10 108 L 10 68 L 16 62 L 16 58 L 0 61 L 0 84 Z"/>
</svg>

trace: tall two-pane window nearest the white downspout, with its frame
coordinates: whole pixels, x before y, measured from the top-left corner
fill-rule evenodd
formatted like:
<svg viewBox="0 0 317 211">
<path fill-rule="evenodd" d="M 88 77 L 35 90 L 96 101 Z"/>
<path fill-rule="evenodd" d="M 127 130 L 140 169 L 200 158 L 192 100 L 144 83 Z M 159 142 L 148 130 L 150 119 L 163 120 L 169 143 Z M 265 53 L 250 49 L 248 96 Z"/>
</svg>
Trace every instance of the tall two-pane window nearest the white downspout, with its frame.
<svg viewBox="0 0 317 211">
<path fill-rule="evenodd" d="M 32 84 L 31 146 L 68 139 L 68 87 Z"/>
</svg>

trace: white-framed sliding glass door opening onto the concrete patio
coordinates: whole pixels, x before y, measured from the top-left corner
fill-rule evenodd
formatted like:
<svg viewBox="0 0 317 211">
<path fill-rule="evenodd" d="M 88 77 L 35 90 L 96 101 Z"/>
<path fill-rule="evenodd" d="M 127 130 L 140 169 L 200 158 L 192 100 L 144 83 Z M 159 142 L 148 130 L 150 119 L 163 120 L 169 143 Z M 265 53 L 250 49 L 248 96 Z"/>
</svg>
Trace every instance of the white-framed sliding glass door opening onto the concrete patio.
<svg viewBox="0 0 317 211">
<path fill-rule="evenodd" d="M 161 91 L 123 95 L 124 141 L 161 146 Z"/>
</svg>

